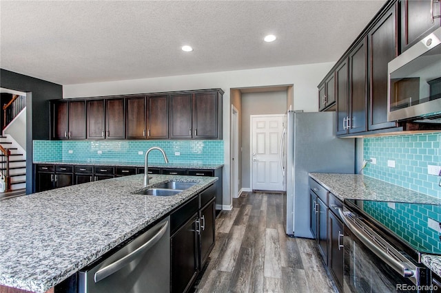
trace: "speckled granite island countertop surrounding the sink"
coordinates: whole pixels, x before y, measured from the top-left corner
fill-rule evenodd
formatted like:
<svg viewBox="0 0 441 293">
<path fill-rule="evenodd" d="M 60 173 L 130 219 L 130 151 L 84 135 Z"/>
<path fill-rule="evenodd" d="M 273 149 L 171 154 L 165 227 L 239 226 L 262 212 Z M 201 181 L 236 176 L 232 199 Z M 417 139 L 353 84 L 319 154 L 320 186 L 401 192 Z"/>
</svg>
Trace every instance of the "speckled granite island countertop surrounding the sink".
<svg viewBox="0 0 441 293">
<path fill-rule="evenodd" d="M 197 182 L 172 197 L 134 195 L 143 175 L 113 178 L 0 202 L 0 284 L 45 292 L 216 182 L 153 175 L 150 186 Z"/>
</svg>

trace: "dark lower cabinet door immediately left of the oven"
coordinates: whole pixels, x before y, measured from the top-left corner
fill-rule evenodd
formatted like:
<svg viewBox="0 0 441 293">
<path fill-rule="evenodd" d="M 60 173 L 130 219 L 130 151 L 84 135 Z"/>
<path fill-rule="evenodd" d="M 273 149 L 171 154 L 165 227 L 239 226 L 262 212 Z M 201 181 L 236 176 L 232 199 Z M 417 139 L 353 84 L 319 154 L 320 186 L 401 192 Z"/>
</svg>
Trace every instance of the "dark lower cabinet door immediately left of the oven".
<svg viewBox="0 0 441 293">
<path fill-rule="evenodd" d="M 329 263 L 328 268 L 334 276 L 337 287 L 342 292 L 343 288 L 343 259 L 345 257 L 343 249 L 343 224 L 334 215 L 329 213 Z"/>
</svg>

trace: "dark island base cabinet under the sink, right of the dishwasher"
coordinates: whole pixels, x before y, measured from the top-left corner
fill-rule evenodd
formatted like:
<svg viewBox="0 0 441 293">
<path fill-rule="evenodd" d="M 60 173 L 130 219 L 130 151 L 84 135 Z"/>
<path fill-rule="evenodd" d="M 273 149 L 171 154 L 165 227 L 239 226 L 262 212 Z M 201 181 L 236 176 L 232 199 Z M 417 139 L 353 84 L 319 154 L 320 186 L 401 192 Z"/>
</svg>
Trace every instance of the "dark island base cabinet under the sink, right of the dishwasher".
<svg viewBox="0 0 441 293">
<path fill-rule="evenodd" d="M 214 184 L 170 215 L 170 292 L 189 292 L 214 247 Z"/>
</svg>

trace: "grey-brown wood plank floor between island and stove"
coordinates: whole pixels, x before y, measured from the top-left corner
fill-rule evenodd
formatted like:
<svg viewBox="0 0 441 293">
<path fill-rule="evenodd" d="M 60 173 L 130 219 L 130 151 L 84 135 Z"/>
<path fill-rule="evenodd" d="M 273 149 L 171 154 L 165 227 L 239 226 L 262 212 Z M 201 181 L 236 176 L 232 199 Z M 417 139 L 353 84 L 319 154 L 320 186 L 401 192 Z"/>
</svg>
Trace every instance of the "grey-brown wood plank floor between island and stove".
<svg viewBox="0 0 441 293">
<path fill-rule="evenodd" d="M 233 199 L 195 292 L 337 292 L 314 240 L 285 235 L 282 205 L 278 193 Z"/>
</svg>

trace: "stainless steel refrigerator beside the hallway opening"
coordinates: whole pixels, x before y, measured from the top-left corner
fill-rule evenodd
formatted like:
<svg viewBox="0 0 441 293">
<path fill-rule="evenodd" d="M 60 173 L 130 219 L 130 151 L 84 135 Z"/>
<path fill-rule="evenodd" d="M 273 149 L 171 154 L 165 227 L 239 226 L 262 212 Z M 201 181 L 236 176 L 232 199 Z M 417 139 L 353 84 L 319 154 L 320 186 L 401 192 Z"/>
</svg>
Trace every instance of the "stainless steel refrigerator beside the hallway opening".
<svg viewBox="0 0 441 293">
<path fill-rule="evenodd" d="M 308 173 L 354 173 L 355 140 L 337 138 L 335 112 L 288 111 L 280 148 L 287 235 L 312 238 Z"/>
</svg>

